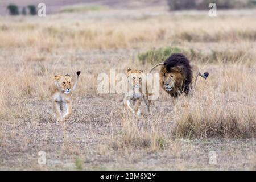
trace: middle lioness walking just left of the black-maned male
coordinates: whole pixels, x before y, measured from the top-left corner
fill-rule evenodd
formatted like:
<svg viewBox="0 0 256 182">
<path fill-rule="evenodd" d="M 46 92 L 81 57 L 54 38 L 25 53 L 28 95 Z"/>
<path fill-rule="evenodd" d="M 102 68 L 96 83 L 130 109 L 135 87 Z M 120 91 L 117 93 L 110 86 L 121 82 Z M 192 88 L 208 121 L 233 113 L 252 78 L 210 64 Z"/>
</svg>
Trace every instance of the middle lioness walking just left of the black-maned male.
<svg viewBox="0 0 256 182">
<path fill-rule="evenodd" d="M 146 76 L 144 75 L 144 72 L 142 70 L 128 68 L 126 73 L 126 92 L 123 96 L 123 104 L 125 105 L 125 110 L 128 113 L 132 113 L 137 116 L 141 115 L 141 110 L 139 107 L 141 106 L 143 98 L 148 111 L 150 111 L 150 107 L 148 106 L 147 101 L 148 94 L 147 92 L 142 92 L 143 84 L 146 83 Z M 130 106 L 130 102 L 132 102 L 134 106 L 133 108 Z"/>
</svg>

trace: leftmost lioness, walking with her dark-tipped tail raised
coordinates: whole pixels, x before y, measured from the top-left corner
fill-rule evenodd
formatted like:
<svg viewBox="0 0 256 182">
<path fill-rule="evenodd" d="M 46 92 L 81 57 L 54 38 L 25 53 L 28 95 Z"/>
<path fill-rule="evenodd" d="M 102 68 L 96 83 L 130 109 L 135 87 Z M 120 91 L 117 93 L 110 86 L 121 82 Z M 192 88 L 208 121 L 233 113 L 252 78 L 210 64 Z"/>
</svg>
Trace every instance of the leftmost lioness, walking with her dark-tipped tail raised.
<svg viewBox="0 0 256 182">
<path fill-rule="evenodd" d="M 51 87 L 52 104 L 55 110 L 57 121 L 67 120 L 71 115 L 72 93 L 76 89 L 80 71 L 76 72 L 75 84 L 72 77 L 66 75 L 55 75 Z"/>
</svg>

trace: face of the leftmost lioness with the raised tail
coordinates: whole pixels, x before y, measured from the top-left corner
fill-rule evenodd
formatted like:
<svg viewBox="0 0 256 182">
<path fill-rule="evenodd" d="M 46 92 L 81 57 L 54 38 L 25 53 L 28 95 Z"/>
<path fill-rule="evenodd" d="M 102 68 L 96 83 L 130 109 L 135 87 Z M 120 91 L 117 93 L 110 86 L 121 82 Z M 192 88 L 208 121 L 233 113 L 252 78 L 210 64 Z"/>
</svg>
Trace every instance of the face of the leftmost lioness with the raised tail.
<svg viewBox="0 0 256 182">
<path fill-rule="evenodd" d="M 54 79 L 56 86 L 60 90 L 60 92 L 64 92 L 65 94 L 69 94 L 72 92 L 71 76 L 69 76 L 68 74 L 65 76 L 56 75 Z"/>
</svg>

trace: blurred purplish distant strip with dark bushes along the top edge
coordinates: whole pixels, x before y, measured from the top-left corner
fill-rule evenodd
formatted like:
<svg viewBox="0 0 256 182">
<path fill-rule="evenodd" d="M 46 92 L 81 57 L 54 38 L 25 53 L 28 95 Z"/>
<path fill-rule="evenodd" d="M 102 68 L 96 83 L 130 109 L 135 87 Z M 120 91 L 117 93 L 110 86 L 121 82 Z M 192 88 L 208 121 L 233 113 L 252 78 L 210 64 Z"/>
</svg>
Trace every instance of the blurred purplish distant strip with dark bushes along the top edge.
<svg viewBox="0 0 256 182">
<path fill-rule="evenodd" d="M 252 8 L 256 4 L 256 0 L 2 0 L 0 1 L 0 14 L 26 14 L 29 12 L 33 14 L 34 7 L 32 6 L 35 6 L 36 8 L 36 5 L 40 2 L 47 5 L 47 13 L 85 11 L 86 7 L 83 6 L 91 6 L 90 8 L 95 10 L 98 9 L 99 6 L 129 9 L 137 7 L 166 6 L 170 10 L 205 10 L 208 9 L 208 5 L 211 2 L 216 3 L 218 9 L 245 9 Z M 89 7 L 87 7 L 87 10 L 88 8 Z"/>
</svg>

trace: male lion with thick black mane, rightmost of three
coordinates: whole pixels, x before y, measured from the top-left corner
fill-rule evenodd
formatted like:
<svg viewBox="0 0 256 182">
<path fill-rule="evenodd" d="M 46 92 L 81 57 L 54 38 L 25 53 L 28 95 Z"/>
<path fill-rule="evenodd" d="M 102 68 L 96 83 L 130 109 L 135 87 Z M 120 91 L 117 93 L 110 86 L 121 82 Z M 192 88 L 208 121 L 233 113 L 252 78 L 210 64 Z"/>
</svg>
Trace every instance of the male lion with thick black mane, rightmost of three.
<svg viewBox="0 0 256 182">
<path fill-rule="evenodd" d="M 191 64 L 187 57 L 181 53 L 173 53 L 163 63 L 152 67 L 150 73 L 159 65 L 162 65 L 159 72 L 160 86 L 174 98 L 180 94 L 187 95 L 192 89 L 195 90 L 198 76 L 205 79 L 209 76 L 208 72 L 201 74 L 198 67 Z"/>
</svg>

